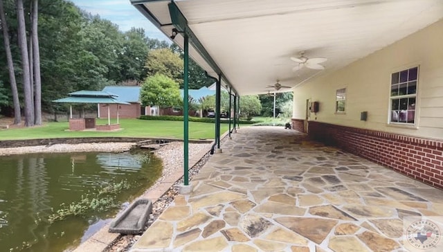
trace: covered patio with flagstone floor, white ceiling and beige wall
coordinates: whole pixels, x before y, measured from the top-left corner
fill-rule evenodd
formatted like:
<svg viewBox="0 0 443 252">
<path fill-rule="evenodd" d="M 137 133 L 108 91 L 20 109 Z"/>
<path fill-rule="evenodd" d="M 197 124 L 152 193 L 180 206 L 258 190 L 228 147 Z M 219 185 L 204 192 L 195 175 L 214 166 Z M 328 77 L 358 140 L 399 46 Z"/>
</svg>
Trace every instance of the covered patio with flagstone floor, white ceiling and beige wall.
<svg viewBox="0 0 443 252">
<path fill-rule="evenodd" d="M 313 138 L 345 132 L 339 140 L 349 151 L 390 165 L 309 141 L 300 132 L 237 129 L 235 121 L 232 139 L 221 144 L 216 122 L 217 152 L 188 185 L 185 114 L 183 188 L 190 194 L 179 195 L 132 251 L 404 251 L 428 238 L 440 242 L 437 229 L 429 230 L 426 239 L 421 229 L 409 236 L 405 231 L 411 219 L 443 215 L 441 190 L 415 180 L 443 185 L 441 121 L 433 114 L 436 123 L 426 123 L 423 113 L 423 125 L 395 125 L 388 114 L 392 96 L 399 95 L 390 92 L 398 84 L 391 74 L 408 75 L 408 68 L 419 65 L 421 91 L 443 90 L 437 70 L 441 57 L 434 59 L 441 46 L 424 44 L 441 40 L 442 1 L 131 2 L 183 48 L 185 96 L 188 57 L 215 79 L 216 118 L 221 87 L 233 96 L 235 118 L 241 96 L 293 91 L 293 122 L 300 132 Z M 346 111 L 336 107 L 343 90 L 348 91 Z M 386 92 L 370 93 L 375 90 Z M 412 90 L 408 95 L 419 100 L 418 89 Z M 441 96 L 433 101 L 429 107 L 440 113 Z M 369 119 L 362 116 L 368 111 Z M 326 131 L 322 123 L 340 127 Z M 422 126 L 432 129 L 426 132 Z M 351 127 L 358 134 L 350 134 Z M 350 144 L 357 140 L 361 142 Z M 366 143 L 374 143 L 387 157 L 374 157 Z M 403 149 L 386 154 L 395 147 Z M 408 161 L 413 152 L 418 161 Z M 430 247 L 442 251 L 441 244 Z"/>
</svg>

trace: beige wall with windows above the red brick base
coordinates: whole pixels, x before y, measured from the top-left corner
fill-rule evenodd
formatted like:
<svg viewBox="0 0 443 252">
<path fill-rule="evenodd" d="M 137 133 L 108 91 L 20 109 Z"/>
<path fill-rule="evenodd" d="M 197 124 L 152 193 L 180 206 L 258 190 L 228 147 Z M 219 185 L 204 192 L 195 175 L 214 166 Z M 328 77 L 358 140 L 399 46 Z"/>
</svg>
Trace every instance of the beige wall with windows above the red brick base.
<svg viewBox="0 0 443 252">
<path fill-rule="evenodd" d="M 419 66 L 415 127 L 388 125 L 391 73 Z M 335 114 L 336 89 L 346 88 L 346 112 Z M 293 118 L 306 100 L 320 102 L 310 120 L 426 138 L 443 138 L 443 20 L 345 68 L 293 90 Z M 360 112 L 368 111 L 368 120 Z"/>
</svg>

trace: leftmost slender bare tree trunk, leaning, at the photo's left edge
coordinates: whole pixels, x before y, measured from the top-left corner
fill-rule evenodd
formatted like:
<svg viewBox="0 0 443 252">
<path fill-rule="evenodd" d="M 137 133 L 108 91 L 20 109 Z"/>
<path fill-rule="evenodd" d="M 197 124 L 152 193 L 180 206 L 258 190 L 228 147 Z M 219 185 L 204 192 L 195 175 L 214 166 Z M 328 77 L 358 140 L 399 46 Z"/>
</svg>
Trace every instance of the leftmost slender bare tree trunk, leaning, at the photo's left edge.
<svg viewBox="0 0 443 252">
<path fill-rule="evenodd" d="M 3 42 L 5 44 L 6 60 L 8 61 L 9 82 L 11 86 L 12 102 L 14 104 L 14 124 L 21 123 L 19 92 L 17 90 L 17 82 L 15 80 L 14 62 L 9 42 L 9 30 L 6 22 L 5 11 L 3 9 L 3 0 L 0 0 L 0 21 L 3 30 Z M 2 84 L 3 85 L 3 84 Z M 4 104 L 3 104 L 4 105 Z"/>
</svg>

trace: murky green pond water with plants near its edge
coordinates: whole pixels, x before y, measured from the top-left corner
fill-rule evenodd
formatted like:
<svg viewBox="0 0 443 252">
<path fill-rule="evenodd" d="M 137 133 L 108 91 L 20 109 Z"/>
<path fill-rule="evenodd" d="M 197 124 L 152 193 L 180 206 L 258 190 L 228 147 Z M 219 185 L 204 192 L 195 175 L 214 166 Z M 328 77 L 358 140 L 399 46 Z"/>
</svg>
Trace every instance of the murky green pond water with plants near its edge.
<svg viewBox="0 0 443 252">
<path fill-rule="evenodd" d="M 141 151 L 0 156 L 0 251 L 75 248 L 161 170 L 160 159 Z"/>
</svg>

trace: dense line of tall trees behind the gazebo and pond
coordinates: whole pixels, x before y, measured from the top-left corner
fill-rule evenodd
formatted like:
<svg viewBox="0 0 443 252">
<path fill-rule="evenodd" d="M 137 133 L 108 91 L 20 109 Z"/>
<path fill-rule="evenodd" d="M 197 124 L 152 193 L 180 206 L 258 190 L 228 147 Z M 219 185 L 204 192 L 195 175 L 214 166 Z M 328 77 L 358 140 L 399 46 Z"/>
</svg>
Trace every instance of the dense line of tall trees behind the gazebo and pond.
<svg viewBox="0 0 443 252">
<path fill-rule="evenodd" d="M 51 101 L 73 91 L 141 84 L 165 67 L 183 79 L 177 46 L 143 28 L 122 32 L 70 1 L 0 0 L 0 12 L 0 113 L 17 124 L 24 116 L 26 126 L 40 125 L 42 111 L 65 109 Z M 195 62 L 190 69 L 191 87 L 210 84 Z"/>
</svg>

